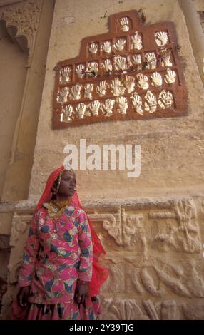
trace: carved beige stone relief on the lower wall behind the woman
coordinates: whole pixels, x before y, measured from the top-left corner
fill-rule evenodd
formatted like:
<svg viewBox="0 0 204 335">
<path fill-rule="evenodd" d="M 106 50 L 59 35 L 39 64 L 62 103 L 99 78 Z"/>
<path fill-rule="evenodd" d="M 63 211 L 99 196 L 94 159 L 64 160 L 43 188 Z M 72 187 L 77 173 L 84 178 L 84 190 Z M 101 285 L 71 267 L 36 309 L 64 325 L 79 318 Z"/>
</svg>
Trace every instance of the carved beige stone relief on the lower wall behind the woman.
<svg viewBox="0 0 204 335">
<path fill-rule="evenodd" d="M 197 206 L 193 198 L 175 198 L 89 207 L 87 212 L 107 252 L 101 262 L 110 271 L 101 291 L 103 319 L 202 318 L 204 268 L 198 221 L 203 217 L 203 202 L 196 200 Z M 3 314 L 14 296 L 34 207 L 29 206 L 14 210 Z"/>
</svg>

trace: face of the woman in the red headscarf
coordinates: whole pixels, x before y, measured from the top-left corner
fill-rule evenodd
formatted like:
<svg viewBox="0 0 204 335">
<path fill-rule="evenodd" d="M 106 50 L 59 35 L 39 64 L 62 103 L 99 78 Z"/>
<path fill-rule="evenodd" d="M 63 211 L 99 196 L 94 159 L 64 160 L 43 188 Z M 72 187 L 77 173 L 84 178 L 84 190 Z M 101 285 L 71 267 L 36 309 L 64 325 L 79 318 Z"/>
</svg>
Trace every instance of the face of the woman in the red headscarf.
<svg viewBox="0 0 204 335">
<path fill-rule="evenodd" d="M 76 190 L 76 175 L 74 172 L 64 170 L 61 176 L 61 183 L 58 188 L 58 195 L 71 197 Z"/>
</svg>

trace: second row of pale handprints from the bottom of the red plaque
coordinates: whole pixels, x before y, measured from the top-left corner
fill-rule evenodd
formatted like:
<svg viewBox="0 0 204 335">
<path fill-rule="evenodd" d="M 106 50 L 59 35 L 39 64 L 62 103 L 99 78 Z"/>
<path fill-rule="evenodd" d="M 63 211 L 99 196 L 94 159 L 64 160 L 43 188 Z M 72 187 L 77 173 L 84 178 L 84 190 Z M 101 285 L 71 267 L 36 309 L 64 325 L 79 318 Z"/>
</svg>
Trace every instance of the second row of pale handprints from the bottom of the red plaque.
<svg viewBox="0 0 204 335">
<path fill-rule="evenodd" d="M 98 96 L 103 97 L 107 94 L 107 89 L 110 90 L 110 93 L 113 96 L 121 96 L 124 93 L 133 93 L 136 88 L 141 88 L 142 90 L 148 90 L 149 86 L 154 88 L 159 88 L 163 85 L 163 81 L 167 84 L 175 83 L 176 73 L 170 68 L 163 73 L 161 76 L 160 73 L 154 72 L 153 74 L 146 76 L 143 73 L 138 73 L 136 79 L 133 76 L 125 76 L 124 79 L 118 77 L 114 78 L 108 84 L 107 81 L 100 81 L 97 83 L 86 83 L 84 86 L 80 83 L 77 83 L 71 87 L 63 87 L 58 92 L 57 102 L 58 103 L 67 103 L 68 100 L 79 100 L 81 98 L 93 99 L 93 92 Z M 83 92 L 83 96 L 81 96 Z"/>
</svg>

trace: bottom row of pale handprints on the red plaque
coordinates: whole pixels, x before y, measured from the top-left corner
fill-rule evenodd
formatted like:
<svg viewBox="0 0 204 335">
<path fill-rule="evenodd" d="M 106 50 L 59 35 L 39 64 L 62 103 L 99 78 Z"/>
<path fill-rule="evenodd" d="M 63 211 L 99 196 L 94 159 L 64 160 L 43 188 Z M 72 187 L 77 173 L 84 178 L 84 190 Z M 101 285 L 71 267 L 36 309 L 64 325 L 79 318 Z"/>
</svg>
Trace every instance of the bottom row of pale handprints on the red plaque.
<svg viewBox="0 0 204 335">
<path fill-rule="evenodd" d="M 175 103 L 173 94 L 170 91 L 161 91 L 158 100 L 156 96 L 151 92 L 147 91 L 145 95 L 145 103 L 143 110 L 143 100 L 138 93 L 133 93 L 130 96 L 133 110 L 143 115 L 144 110 L 148 113 L 154 113 L 158 105 L 162 109 L 171 108 Z M 126 114 L 128 109 L 128 99 L 125 96 L 118 96 L 116 99 L 106 99 L 104 103 L 98 100 L 94 100 L 91 103 L 78 103 L 76 108 L 73 105 L 63 106 L 62 113 L 60 116 L 61 122 L 70 122 L 76 118 L 82 119 L 90 116 L 98 116 L 100 111 L 101 115 L 110 117 L 113 115 L 113 107 L 116 103 L 116 113 Z"/>
</svg>

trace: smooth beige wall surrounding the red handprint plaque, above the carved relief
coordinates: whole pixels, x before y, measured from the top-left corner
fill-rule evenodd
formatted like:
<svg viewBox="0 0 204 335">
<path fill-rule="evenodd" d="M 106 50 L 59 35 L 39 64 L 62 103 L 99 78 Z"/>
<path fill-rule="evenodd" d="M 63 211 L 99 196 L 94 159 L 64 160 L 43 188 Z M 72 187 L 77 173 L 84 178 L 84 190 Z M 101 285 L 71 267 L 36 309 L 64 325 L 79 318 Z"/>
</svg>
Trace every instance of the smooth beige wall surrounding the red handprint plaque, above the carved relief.
<svg viewBox="0 0 204 335">
<path fill-rule="evenodd" d="M 131 0 L 119 3 L 118 1 L 94 1 L 93 3 L 88 0 L 56 1 L 29 197 L 39 196 L 49 172 L 63 162 L 64 146 L 67 143 L 79 145 L 80 138 L 86 138 L 87 145 L 89 143 L 101 146 L 106 143 L 141 144 L 140 177 L 127 178 L 126 171 L 118 170 L 116 172 L 81 170 L 77 176 L 83 199 L 183 195 L 203 189 L 201 169 L 203 156 L 200 152 L 203 143 L 201 130 L 203 85 L 178 1 L 156 1 L 156 3 L 157 5 L 148 0 L 137 1 L 137 3 Z M 94 10 L 95 6 L 97 11 Z M 55 78 L 53 68 L 56 63 L 77 56 L 83 37 L 108 32 L 107 16 L 109 14 L 141 8 L 146 16 L 146 24 L 158 21 L 175 23 L 188 88 L 188 116 L 141 120 L 134 123 L 132 121 L 110 122 L 103 123 L 101 127 L 96 123 L 53 131 L 51 128 Z M 121 180 L 123 180 L 123 187 L 121 187 Z"/>
</svg>

